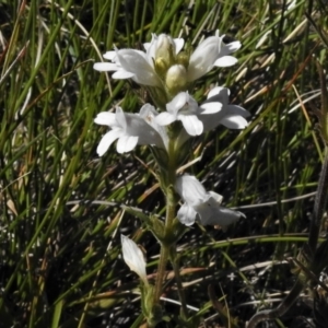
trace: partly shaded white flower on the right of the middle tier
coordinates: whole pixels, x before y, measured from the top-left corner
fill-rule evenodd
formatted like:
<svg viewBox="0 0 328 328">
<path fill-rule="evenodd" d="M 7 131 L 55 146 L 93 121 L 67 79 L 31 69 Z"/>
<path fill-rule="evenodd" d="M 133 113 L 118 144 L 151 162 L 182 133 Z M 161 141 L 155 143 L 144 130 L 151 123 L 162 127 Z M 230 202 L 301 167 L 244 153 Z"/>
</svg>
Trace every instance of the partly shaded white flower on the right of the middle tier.
<svg viewBox="0 0 328 328">
<path fill-rule="evenodd" d="M 209 94 L 208 99 L 201 104 L 202 108 L 212 107 L 213 104 L 222 104 L 218 113 L 213 115 L 200 115 L 198 118 L 203 124 L 203 131 L 214 129 L 219 124 L 229 129 L 244 129 L 248 126 L 245 117 L 250 114 L 246 109 L 236 105 L 229 105 L 230 90 L 226 87 L 215 86 Z"/>
</svg>

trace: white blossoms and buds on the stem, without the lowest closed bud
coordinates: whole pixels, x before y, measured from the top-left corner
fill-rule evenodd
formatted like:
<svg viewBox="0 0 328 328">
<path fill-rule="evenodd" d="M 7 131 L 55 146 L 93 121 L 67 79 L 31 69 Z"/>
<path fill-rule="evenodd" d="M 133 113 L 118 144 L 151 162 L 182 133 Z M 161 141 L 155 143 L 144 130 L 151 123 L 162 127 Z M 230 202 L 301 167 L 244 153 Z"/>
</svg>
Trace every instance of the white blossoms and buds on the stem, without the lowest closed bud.
<svg viewBox="0 0 328 328">
<path fill-rule="evenodd" d="M 148 144 L 154 150 L 161 150 L 161 154 L 166 154 L 163 161 L 155 157 L 163 167 L 165 161 L 168 163 L 169 159 L 178 156 L 191 137 L 200 136 L 219 125 L 230 129 L 247 127 L 249 113 L 230 104 L 229 89 L 213 87 L 201 104 L 190 94 L 192 82 L 211 69 L 237 62 L 231 54 L 241 47 L 241 43 L 224 44 L 223 37 L 216 32 L 190 52 L 184 50 L 183 38 L 153 34 L 152 40 L 143 45 L 143 51 L 117 48 L 107 51 L 104 58 L 109 62 L 96 62 L 94 69 L 114 72 L 113 79 L 132 79 L 143 85 L 155 106 L 144 104 L 138 114 L 125 113 L 121 107 L 116 107 L 115 113 L 99 113 L 95 122 L 108 126 L 110 130 L 98 144 L 98 155 L 104 155 L 116 140 L 118 153 L 130 152 L 137 144 Z M 198 221 L 203 225 L 220 225 L 224 229 L 244 216 L 241 212 L 221 207 L 222 197 L 206 191 L 194 176 L 183 175 L 168 183 L 162 178 L 162 181 L 164 189 L 168 184 L 174 185 L 175 191 L 181 197 L 184 203 L 177 218 L 185 225 Z"/>
</svg>

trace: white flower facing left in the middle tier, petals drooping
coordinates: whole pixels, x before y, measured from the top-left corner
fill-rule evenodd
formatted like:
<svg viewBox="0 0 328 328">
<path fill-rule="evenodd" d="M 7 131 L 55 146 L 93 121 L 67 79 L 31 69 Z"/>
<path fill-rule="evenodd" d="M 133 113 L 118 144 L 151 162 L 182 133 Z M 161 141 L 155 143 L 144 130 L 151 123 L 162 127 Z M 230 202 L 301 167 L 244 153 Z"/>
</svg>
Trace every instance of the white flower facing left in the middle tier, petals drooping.
<svg viewBox="0 0 328 328">
<path fill-rule="evenodd" d="M 103 112 L 94 119 L 97 125 L 112 128 L 101 140 L 97 153 L 102 156 L 117 141 L 117 152 L 126 153 L 134 149 L 137 144 L 155 144 L 164 148 L 161 136 L 138 114 L 124 113 L 120 107 L 116 113 Z"/>
</svg>

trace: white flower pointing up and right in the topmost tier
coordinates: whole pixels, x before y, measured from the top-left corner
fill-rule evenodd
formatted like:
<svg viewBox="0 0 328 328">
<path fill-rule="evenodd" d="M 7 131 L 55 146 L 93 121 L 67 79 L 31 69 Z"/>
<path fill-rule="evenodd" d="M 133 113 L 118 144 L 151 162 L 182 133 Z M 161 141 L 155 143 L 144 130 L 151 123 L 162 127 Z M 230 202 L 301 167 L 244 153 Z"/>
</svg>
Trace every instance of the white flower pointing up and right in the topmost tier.
<svg viewBox="0 0 328 328">
<path fill-rule="evenodd" d="M 195 81 L 209 72 L 214 66 L 230 67 L 237 62 L 235 57 L 229 56 L 241 48 L 239 42 L 225 45 L 224 35 L 219 36 L 216 31 L 214 36 L 206 38 L 191 54 L 188 66 L 188 81 Z"/>
</svg>

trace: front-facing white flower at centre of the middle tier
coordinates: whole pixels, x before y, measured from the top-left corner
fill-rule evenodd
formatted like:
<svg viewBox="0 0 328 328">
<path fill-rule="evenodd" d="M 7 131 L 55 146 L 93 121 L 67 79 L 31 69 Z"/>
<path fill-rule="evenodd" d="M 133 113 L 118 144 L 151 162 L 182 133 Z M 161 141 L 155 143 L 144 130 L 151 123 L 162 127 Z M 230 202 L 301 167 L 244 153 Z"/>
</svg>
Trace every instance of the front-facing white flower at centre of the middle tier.
<svg viewBox="0 0 328 328">
<path fill-rule="evenodd" d="M 219 112 L 221 106 L 219 103 L 216 105 L 216 107 L 212 105 L 199 107 L 188 92 L 180 92 L 166 104 L 167 112 L 159 114 L 155 120 L 161 126 L 167 126 L 176 120 L 180 120 L 188 134 L 199 136 L 203 131 L 203 124 L 199 116 Z"/>
</svg>

